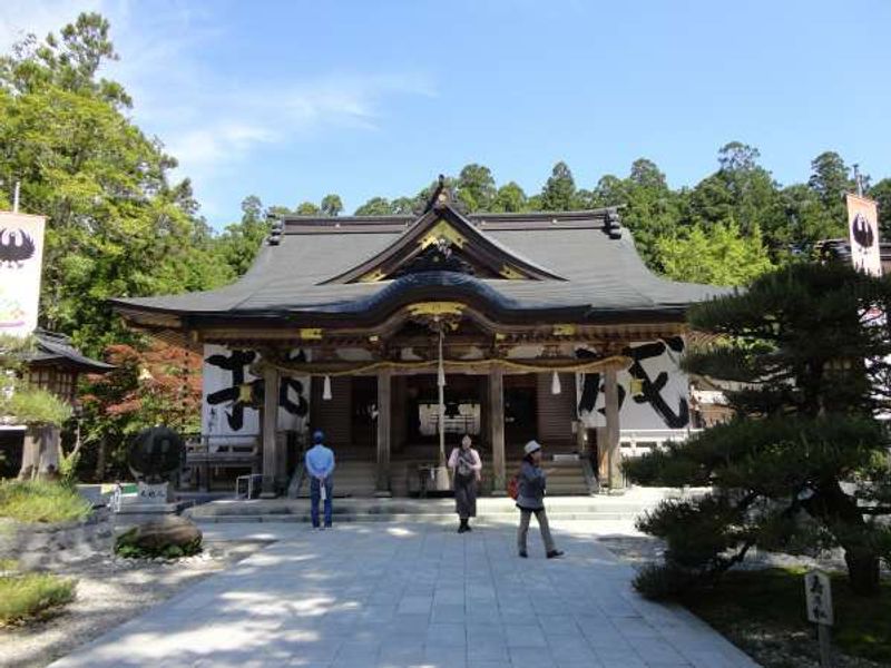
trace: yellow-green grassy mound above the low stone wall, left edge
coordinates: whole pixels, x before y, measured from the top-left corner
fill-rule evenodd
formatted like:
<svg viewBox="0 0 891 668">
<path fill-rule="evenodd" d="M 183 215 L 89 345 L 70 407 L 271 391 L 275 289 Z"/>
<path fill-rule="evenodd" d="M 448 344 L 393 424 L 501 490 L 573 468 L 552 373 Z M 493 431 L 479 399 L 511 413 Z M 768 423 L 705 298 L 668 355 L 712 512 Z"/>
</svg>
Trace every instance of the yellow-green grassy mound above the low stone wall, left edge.
<svg viewBox="0 0 891 668">
<path fill-rule="evenodd" d="M 0 518 L 18 522 L 69 522 L 89 517 L 91 505 L 77 490 L 53 482 L 0 482 Z"/>
</svg>

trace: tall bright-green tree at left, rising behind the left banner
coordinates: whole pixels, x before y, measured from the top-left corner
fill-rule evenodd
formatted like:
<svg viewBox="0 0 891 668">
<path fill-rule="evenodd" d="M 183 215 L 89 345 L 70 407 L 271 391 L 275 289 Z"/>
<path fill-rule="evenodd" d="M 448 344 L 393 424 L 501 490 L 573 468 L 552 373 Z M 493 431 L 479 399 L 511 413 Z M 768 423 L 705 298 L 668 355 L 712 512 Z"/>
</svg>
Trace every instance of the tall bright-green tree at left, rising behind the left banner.
<svg viewBox="0 0 891 668">
<path fill-rule="evenodd" d="M 0 59 L 0 180 L 48 217 L 41 325 L 88 354 L 131 338 L 106 299 L 205 289 L 228 279 L 176 160 L 125 116 L 129 98 L 97 79 L 115 58 L 108 23 L 81 14 Z"/>
</svg>

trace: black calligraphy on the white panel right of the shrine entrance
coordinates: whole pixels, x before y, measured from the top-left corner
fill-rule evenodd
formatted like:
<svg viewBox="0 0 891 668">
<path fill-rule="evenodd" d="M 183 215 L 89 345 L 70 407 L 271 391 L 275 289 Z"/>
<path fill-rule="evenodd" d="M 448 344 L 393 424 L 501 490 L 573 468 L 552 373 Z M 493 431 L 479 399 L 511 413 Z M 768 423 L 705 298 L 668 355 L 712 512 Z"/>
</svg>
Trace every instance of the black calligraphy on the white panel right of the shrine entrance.
<svg viewBox="0 0 891 668">
<path fill-rule="evenodd" d="M 631 376 L 633 381 L 639 383 L 639 392 L 631 394 L 634 402 L 649 405 L 667 428 L 683 429 L 689 424 L 689 403 L 686 396 L 678 397 L 677 409 L 675 410 L 675 406 L 669 404 L 670 400 L 666 399 L 664 395 L 664 391 L 669 381 L 668 372 L 659 371 L 656 377 L 650 377 L 649 372 L 647 372 L 643 364 L 647 360 L 655 360 L 667 354 L 668 351 L 678 355 L 682 354 L 684 352 L 684 338 L 681 336 L 673 336 L 642 345 L 628 346 L 621 351 L 621 354 L 633 360 L 631 365 L 628 367 L 628 374 Z M 576 351 L 576 356 L 580 360 L 595 358 L 597 354 L 591 351 L 579 348 Z M 604 391 L 601 374 L 585 374 L 581 394 L 578 401 L 579 414 L 594 412 L 597 406 L 597 399 Z M 627 394 L 625 387 L 619 385 L 619 410 L 621 410 Z M 605 409 L 598 409 L 598 412 L 604 414 Z"/>
</svg>

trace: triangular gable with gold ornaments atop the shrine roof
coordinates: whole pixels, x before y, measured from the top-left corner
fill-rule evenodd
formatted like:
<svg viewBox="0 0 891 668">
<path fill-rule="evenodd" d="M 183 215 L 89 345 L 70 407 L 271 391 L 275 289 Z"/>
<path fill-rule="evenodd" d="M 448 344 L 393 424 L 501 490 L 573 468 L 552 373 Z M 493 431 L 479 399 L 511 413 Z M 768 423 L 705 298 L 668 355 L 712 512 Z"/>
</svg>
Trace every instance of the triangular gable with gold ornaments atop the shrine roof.
<svg viewBox="0 0 891 668">
<path fill-rule="evenodd" d="M 390 247 L 324 283 L 376 283 L 420 272 L 456 272 L 508 281 L 565 281 L 477 229 L 452 206 L 440 183 L 428 209 Z"/>
</svg>

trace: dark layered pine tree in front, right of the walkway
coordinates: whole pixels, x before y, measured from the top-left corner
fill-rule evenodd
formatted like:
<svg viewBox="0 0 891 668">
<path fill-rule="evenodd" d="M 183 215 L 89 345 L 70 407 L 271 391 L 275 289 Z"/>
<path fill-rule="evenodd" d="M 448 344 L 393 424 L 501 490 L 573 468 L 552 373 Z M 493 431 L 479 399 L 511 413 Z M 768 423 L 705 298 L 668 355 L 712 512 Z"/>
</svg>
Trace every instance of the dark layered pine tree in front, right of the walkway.
<svg viewBox="0 0 891 668">
<path fill-rule="evenodd" d="M 735 418 L 627 463 L 643 484 L 711 490 L 638 522 L 667 541 L 665 563 L 638 587 L 670 595 L 711 581 L 753 547 L 841 546 L 853 590 L 878 591 L 880 559 L 891 560 L 891 530 L 877 521 L 891 514 L 891 468 L 874 414 L 888 407 L 891 342 L 873 306 L 889 302 L 885 278 L 792 264 L 691 310 L 691 326 L 712 336 L 685 367 L 724 381 Z"/>
</svg>

